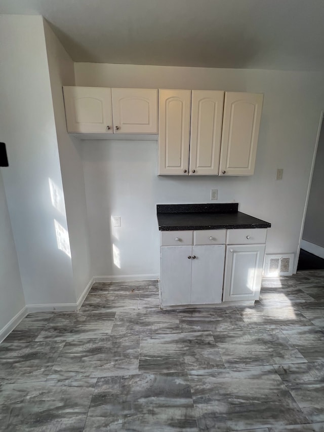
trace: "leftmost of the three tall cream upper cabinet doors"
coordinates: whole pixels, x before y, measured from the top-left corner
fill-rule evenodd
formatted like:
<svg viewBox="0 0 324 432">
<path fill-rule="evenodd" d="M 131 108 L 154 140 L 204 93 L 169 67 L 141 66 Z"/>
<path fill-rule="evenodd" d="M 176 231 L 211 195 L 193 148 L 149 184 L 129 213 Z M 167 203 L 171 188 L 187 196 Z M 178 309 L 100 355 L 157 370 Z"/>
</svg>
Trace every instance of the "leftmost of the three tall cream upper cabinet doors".
<svg viewBox="0 0 324 432">
<path fill-rule="evenodd" d="M 158 174 L 188 175 L 191 90 L 159 90 Z"/>
</svg>

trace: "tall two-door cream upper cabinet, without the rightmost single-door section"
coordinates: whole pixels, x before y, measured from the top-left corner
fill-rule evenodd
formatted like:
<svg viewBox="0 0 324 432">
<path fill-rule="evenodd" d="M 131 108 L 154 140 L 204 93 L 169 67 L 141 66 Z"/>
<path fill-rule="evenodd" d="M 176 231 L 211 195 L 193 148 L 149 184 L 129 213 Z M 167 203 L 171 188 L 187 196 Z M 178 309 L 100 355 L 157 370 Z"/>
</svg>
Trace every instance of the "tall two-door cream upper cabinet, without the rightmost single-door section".
<svg viewBox="0 0 324 432">
<path fill-rule="evenodd" d="M 159 90 L 159 174 L 217 175 L 224 92 Z"/>
</svg>

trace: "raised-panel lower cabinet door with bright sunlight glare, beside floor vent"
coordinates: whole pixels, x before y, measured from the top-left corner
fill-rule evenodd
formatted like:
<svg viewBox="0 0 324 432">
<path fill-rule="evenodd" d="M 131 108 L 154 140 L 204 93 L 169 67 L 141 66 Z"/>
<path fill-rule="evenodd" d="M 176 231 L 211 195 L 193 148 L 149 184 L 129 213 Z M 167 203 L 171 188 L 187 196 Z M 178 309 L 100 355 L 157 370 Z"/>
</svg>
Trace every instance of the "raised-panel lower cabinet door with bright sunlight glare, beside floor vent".
<svg viewBox="0 0 324 432">
<path fill-rule="evenodd" d="M 265 245 L 227 246 L 223 301 L 258 300 Z"/>
</svg>

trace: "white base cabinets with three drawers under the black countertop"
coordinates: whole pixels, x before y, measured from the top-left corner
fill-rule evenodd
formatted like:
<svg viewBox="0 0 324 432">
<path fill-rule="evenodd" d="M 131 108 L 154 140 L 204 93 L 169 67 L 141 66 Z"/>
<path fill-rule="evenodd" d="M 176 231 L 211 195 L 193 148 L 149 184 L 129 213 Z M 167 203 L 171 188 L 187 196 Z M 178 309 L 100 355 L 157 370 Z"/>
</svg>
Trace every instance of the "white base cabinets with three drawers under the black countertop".
<svg viewBox="0 0 324 432">
<path fill-rule="evenodd" d="M 258 300 L 266 233 L 266 228 L 161 231 L 161 306 Z"/>
</svg>

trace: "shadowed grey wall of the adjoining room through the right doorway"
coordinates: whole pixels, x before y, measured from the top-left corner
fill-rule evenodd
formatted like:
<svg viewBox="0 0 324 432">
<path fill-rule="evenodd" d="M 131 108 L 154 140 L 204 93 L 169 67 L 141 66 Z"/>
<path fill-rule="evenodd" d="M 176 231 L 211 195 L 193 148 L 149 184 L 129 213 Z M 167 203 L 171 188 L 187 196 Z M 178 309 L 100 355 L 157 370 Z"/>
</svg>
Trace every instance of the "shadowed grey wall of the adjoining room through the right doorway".
<svg viewBox="0 0 324 432">
<path fill-rule="evenodd" d="M 324 122 L 319 134 L 312 183 L 309 192 L 303 240 L 324 248 Z"/>
</svg>

